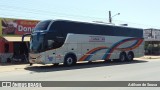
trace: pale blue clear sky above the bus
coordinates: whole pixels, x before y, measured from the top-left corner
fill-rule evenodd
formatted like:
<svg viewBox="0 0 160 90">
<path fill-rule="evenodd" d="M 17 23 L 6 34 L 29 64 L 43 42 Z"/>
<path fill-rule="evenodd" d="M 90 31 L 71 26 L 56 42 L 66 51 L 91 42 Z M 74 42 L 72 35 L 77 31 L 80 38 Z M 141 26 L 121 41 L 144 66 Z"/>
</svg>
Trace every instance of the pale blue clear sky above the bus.
<svg viewBox="0 0 160 90">
<path fill-rule="evenodd" d="M 115 25 L 144 29 L 160 29 L 159 9 L 160 0 L 0 0 L 0 17 L 4 18 L 108 23 L 111 11 Z"/>
</svg>

